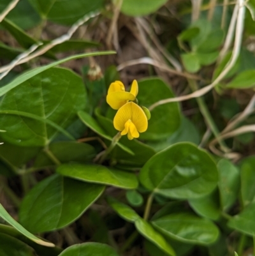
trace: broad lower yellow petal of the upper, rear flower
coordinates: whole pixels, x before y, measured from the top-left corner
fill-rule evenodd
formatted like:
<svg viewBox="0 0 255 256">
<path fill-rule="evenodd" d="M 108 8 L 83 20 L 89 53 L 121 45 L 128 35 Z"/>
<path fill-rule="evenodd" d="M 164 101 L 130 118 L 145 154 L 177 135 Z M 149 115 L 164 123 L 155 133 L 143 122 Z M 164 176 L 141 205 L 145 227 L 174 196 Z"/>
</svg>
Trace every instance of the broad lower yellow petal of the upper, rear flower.
<svg viewBox="0 0 255 256">
<path fill-rule="evenodd" d="M 135 100 L 135 96 L 127 91 L 115 91 L 114 93 L 108 93 L 106 96 L 106 102 L 115 110 L 122 107 L 129 100 Z"/>
</svg>

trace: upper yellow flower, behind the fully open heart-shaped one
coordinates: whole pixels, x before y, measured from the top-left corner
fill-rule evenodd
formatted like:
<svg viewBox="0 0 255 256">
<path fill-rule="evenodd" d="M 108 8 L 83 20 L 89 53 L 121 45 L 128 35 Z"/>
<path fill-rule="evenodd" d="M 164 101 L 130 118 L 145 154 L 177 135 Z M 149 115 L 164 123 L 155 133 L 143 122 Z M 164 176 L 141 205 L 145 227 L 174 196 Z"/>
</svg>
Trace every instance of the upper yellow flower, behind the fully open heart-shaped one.
<svg viewBox="0 0 255 256">
<path fill-rule="evenodd" d="M 120 107 L 129 102 L 129 100 L 135 100 L 138 94 L 138 84 L 136 80 L 133 80 L 130 92 L 125 91 L 124 84 L 120 81 L 115 81 L 110 84 L 108 94 L 106 96 L 106 102 L 112 107 L 112 109 L 118 110 Z"/>
</svg>

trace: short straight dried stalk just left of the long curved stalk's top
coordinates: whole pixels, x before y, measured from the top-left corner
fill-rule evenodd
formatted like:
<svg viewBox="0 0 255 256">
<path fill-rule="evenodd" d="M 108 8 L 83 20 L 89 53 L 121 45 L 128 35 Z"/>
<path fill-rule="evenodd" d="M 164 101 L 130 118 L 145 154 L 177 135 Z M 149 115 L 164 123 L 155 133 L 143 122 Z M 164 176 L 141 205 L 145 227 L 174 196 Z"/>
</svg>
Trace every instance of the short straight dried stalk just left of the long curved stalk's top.
<svg viewBox="0 0 255 256">
<path fill-rule="evenodd" d="M 220 62 L 224 58 L 224 56 L 226 56 L 226 53 L 230 49 L 230 46 L 231 46 L 231 43 L 233 40 L 233 36 L 235 34 L 235 24 L 237 22 L 238 9 L 239 9 L 239 6 L 238 6 L 238 4 L 236 4 L 233 14 L 232 14 L 232 17 L 231 17 L 230 26 L 228 27 L 228 33 L 226 35 L 226 40 L 224 41 L 224 45 L 221 49 L 221 52 L 219 53 L 218 62 Z"/>
</svg>

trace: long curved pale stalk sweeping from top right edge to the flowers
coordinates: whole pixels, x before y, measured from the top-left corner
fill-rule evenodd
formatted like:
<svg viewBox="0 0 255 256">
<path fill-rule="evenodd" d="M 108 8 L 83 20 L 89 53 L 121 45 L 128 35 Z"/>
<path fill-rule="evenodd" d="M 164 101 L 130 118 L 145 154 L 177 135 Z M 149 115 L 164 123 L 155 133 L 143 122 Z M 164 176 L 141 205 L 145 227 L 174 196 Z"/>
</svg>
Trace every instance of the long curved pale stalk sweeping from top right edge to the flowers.
<svg viewBox="0 0 255 256">
<path fill-rule="evenodd" d="M 195 91 L 194 93 L 187 94 L 184 96 L 176 97 L 176 98 L 168 98 L 166 100 L 160 100 L 159 102 L 156 102 L 152 104 L 149 107 L 149 110 L 152 110 L 156 108 L 159 105 L 163 105 L 170 102 L 182 102 L 184 100 L 189 100 L 191 98 L 197 98 L 200 96 L 203 96 L 204 94 L 208 93 L 214 86 L 216 86 L 219 82 L 221 82 L 222 79 L 224 79 L 225 75 L 233 68 L 235 62 L 237 61 L 237 58 L 240 54 L 240 49 L 242 46 L 242 34 L 244 31 L 244 18 L 245 18 L 245 6 L 244 6 L 244 0 L 238 0 L 238 16 L 237 16 L 237 27 L 235 30 L 235 43 L 233 47 L 233 52 L 231 55 L 231 59 L 226 64 L 226 67 L 222 72 L 219 74 L 219 76 L 212 82 L 212 84 L 209 84 L 208 86 L 203 87 L 202 89 L 199 89 L 198 91 Z"/>
</svg>

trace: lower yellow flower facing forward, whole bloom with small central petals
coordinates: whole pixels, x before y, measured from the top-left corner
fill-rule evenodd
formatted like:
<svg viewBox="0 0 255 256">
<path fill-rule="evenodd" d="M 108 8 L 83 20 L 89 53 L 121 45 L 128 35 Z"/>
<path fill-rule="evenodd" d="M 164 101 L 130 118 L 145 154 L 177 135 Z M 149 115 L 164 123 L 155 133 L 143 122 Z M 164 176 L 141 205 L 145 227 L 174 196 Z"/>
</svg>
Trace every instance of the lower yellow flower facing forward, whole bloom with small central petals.
<svg viewBox="0 0 255 256">
<path fill-rule="evenodd" d="M 113 125 L 121 135 L 128 134 L 128 139 L 133 140 L 139 137 L 139 133 L 147 130 L 148 120 L 141 107 L 134 102 L 128 102 L 117 111 Z"/>
</svg>

